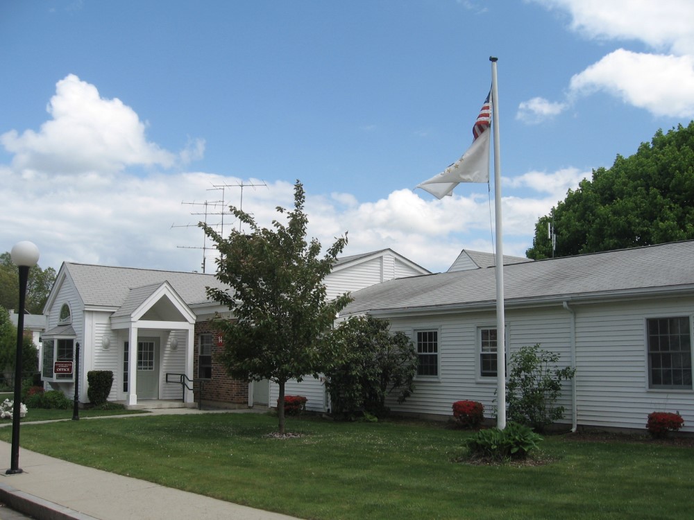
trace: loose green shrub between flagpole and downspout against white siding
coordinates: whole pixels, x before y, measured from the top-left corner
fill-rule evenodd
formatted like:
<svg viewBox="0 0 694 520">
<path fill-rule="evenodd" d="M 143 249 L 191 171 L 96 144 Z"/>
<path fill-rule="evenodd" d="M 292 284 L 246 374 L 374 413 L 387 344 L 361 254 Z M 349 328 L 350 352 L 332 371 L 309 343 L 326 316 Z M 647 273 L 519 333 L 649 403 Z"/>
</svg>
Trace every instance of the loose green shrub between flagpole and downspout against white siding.
<svg viewBox="0 0 694 520">
<path fill-rule="evenodd" d="M 559 354 L 540 345 L 521 347 L 511 356 L 506 385 L 507 417 L 535 431 L 564 417 L 564 406 L 553 406 L 561 395 L 561 381 L 573 379 L 575 368 L 557 368 Z"/>
</svg>

